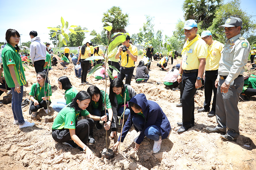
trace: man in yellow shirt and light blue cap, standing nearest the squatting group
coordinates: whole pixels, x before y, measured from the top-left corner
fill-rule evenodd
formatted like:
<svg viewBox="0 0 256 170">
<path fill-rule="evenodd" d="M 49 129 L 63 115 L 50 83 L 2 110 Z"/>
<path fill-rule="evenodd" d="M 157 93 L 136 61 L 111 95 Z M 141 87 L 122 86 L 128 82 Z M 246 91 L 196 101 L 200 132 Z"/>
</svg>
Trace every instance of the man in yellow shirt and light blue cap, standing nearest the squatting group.
<svg viewBox="0 0 256 170">
<path fill-rule="evenodd" d="M 197 33 L 197 24 L 194 19 L 185 22 L 184 33 L 188 38 L 182 50 L 182 62 L 177 81 L 182 81 L 182 123 L 177 132 L 182 133 L 194 126 L 194 95 L 196 89 L 202 86 L 202 75 L 205 69 L 207 46 Z"/>
</svg>

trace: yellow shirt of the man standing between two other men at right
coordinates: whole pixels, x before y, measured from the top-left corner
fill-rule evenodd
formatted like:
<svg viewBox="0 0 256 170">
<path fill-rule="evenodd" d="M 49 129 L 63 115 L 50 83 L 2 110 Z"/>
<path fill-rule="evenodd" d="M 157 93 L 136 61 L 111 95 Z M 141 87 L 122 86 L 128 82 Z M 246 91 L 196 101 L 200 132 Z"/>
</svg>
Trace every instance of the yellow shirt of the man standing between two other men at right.
<svg viewBox="0 0 256 170">
<path fill-rule="evenodd" d="M 219 60 L 221 57 L 220 52 L 223 50 L 224 44 L 214 40 L 213 43 L 211 45 L 207 45 L 207 47 L 209 55 L 206 57 L 205 70 L 217 70 L 219 69 Z"/>
</svg>

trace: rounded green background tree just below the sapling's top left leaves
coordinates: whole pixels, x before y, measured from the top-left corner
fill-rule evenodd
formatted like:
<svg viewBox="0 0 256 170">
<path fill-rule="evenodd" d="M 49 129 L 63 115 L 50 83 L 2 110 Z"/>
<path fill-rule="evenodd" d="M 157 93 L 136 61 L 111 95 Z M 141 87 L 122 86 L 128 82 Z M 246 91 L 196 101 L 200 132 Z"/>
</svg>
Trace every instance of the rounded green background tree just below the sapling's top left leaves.
<svg viewBox="0 0 256 170">
<path fill-rule="evenodd" d="M 81 28 L 81 26 L 78 26 L 74 28 L 74 31 L 79 31 L 79 30 L 87 30 L 87 28 Z M 69 41 L 67 42 L 68 46 L 81 46 L 83 45 L 82 42 L 85 39 L 85 33 L 84 32 L 77 32 L 76 34 L 72 34 L 71 32 L 68 33 Z"/>
</svg>

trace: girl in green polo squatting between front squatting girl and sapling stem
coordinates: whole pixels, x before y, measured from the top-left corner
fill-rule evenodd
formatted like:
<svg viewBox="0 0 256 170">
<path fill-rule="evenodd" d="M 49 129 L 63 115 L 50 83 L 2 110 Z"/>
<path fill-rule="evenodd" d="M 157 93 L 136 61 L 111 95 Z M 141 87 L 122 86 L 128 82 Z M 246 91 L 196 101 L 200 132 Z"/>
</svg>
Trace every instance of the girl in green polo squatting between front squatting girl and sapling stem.
<svg viewBox="0 0 256 170">
<path fill-rule="evenodd" d="M 111 122 L 112 122 L 113 111 L 112 111 L 112 107 L 110 104 L 108 94 L 105 93 L 105 91 L 100 90 L 98 87 L 93 86 L 93 85 L 88 87 L 87 92 L 91 96 L 91 104 L 89 105 L 87 110 L 91 114 L 96 115 L 96 116 L 104 116 L 105 115 L 105 94 L 106 94 L 106 108 L 107 108 L 106 114 L 108 116 L 108 121 L 104 122 L 104 128 L 105 128 L 105 130 L 109 130 Z M 95 121 L 95 122 L 96 122 L 96 124 L 95 124 L 96 128 L 98 130 L 102 129 L 102 125 L 100 124 L 100 122 L 99 121 Z M 91 138 L 93 138 L 93 128 L 91 128 L 89 136 L 91 136 Z"/>
</svg>

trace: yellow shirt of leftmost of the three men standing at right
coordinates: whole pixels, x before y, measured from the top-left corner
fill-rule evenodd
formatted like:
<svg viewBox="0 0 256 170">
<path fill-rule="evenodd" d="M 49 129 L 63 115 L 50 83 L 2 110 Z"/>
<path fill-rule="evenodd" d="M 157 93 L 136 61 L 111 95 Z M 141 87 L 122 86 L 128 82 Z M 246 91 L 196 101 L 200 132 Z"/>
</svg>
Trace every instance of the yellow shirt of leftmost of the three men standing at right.
<svg viewBox="0 0 256 170">
<path fill-rule="evenodd" d="M 183 51 L 182 53 L 182 69 L 183 70 L 198 69 L 199 58 L 207 57 L 208 52 L 207 52 L 207 45 L 205 41 L 202 40 L 202 38 L 200 38 L 198 34 L 196 38 L 193 40 L 191 41 L 187 40 L 183 46 L 183 49 L 185 49 L 184 51 L 182 50 Z"/>
</svg>

